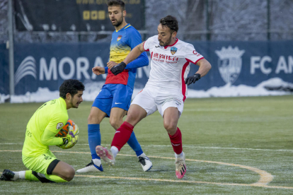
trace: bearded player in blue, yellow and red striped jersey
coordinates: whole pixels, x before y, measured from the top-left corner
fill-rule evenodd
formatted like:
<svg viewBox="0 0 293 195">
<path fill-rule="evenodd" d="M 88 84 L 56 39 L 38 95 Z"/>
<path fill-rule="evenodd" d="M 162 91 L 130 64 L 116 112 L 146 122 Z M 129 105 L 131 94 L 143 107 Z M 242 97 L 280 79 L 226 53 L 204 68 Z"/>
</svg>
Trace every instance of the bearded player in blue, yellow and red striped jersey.
<svg viewBox="0 0 293 195">
<path fill-rule="evenodd" d="M 100 145 L 100 122 L 105 117 L 110 117 L 110 124 L 114 129 L 118 129 L 123 123 L 122 118 L 130 107 L 134 81 L 137 68 L 149 64 L 146 52 L 139 54 L 134 61 L 127 64 L 125 69 L 119 74 L 114 75 L 110 69 L 127 57 L 130 51 L 142 43 L 142 37 L 139 32 L 129 23 L 126 23 L 125 4 L 120 0 L 108 1 L 108 13 L 111 23 L 115 26 L 110 45 L 110 61 L 107 67 L 94 67 L 93 73 L 100 75 L 108 73 L 102 90 L 91 107 L 91 113 L 88 116 L 88 145 L 91 150 L 91 162 L 86 167 L 76 172 L 100 172 L 103 167 L 100 158 L 96 154 L 96 146 Z M 151 160 L 144 154 L 134 133 L 127 141 L 144 171 L 151 169 Z"/>
</svg>

